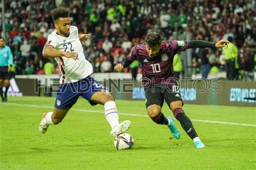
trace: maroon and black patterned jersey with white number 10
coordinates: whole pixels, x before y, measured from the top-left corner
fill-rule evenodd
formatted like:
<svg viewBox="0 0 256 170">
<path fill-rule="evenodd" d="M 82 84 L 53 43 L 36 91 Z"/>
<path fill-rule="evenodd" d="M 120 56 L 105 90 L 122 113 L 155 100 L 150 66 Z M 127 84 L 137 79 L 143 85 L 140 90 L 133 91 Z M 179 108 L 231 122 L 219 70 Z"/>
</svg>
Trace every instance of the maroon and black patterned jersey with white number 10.
<svg viewBox="0 0 256 170">
<path fill-rule="evenodd" d="M 187 40 L 169 40 L 162 43 L 158 55 L 150 58 L 146 51 L 146 44 L 134 46 L 127 62 L 132 63 L 139 60 L 142 64 L 143 85 L 150 84 L 175 84 L 173 73 L 173 57 L 180 51 L 185 51 L 188 47 Z M 126 67 L 126 64 L 124 65 Z"/>
</svg>

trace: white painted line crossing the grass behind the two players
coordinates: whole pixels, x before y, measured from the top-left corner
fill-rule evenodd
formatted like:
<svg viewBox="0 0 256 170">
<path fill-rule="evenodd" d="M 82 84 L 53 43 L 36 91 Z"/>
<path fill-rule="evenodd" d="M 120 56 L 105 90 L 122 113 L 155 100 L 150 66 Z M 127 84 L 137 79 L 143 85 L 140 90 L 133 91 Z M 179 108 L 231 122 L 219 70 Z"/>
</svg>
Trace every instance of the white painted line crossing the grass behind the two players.
<svg viewBox="0 0 256 170">
<path fill-rule="evenodd" d="M 53 106 L 40 106 L 40 105 L 28 105 L 28 104 L 18 104 L 18 103 L 2 103 L 3 105 L 14 105 L 14 106 L 23 106 L 23 107 L 38 107 L 38 108 L 51 108 Z M 95 110 L 86 110 L 86 109 L 77 109 L 72 108 L 73 111 L 78 112 L 91 112 L 91 113 L 104 113 L 103 111 L 95 111 Z M 135 117 L 149 117 L 148 115 L 136 114 L 136 113 L 119 113 L 120 115 L 130 115 Z M 240 123 L 233 123 L 233 122 L 226 122 L 226 121 L 215 121 L 215 120 L 200 120 L 200 119 L 191 119 L 192 121 L 199 121 L 204 123 L 212 123 L 212 124 L 225 124 L 225 125 L 238 125 L 238 126 L 253 126 L 256 127 L 254 124 L 240 124 Z"/>
</svg>

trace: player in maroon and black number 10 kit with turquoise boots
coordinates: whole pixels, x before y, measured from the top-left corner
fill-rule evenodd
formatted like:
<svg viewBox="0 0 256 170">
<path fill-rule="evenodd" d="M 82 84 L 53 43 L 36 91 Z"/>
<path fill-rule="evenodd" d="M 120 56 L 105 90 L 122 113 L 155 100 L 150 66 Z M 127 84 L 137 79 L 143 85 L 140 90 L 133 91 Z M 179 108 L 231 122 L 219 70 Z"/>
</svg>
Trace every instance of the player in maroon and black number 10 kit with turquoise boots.
<svg viewBox="0 0 256 170">
<path fill-rule="evenodd" d="M 150 32 L 145 38 L 145 44 L 134 46 L 129 55 L 114 69 L 118 72 L 129 66 L 134 60 L 142 64 L 143 85 L 146 94 L 146 109 L 150 118 L 157 124 L 167 125 L 174 138 L 180 138 L 180 132 L 173 124 L 173 118 L 161 113 L 164 99 L 172 110 L 174 117 L 180 122 L 187 135 L 193 140 L 196 148 L 205 145 L 199 139 L 191 120 L 186 116 L 182 106 L 183 101 L 179 92 L 177 79 L 173 73 L 173 57 L 180 51 L 196 47 L 224 47 L 226 39 L 218 43 L 203 40 L 169 40 L 162 42 L 161 35 Z"/>
</svg>

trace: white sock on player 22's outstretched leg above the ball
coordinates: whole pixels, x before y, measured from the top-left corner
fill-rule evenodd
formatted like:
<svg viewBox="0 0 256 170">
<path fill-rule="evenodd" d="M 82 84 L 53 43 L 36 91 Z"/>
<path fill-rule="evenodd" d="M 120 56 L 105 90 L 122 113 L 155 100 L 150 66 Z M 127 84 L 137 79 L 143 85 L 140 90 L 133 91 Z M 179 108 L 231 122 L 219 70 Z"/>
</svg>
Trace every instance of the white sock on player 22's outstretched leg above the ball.
<svg viewBox="0 0 256 170">
<path fill-rule="evenodd" d="M 105 117 L 111 128 L 113 129 L 114 126 L 119 124 L 119 115 L 116 107 L 116 102 L 114 101 L 107 101 L 104 105 L 105 108 Z"/>
</svg>

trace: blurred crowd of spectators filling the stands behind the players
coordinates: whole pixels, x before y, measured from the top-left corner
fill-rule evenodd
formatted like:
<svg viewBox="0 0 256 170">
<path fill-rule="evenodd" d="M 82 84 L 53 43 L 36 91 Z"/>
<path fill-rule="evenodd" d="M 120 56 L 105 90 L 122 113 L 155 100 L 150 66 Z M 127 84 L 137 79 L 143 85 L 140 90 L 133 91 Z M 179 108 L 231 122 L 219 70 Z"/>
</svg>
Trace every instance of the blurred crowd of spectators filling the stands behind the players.
<svg viewBox="0 0 256 170">
<path fill-rule="evenodd" d="M 231 37 L 238 47 L 235 76 L 242 79 L 255 69 L 256 11 L 253 0 L 213 1 L 5 1 L 6 45 L 14 55 L 16 74 L 57 73 L 56 62 L 42 57 L 47 36 L 55 30 L 50 11 L 58 6 L 70 8 L 71 25 L 79 33 L 89 33 L 83 44 L 87 60 L 95 72 L 112 72 L 131 47 L 144 42 L 147 32 L 157 31 L 164 40 L 174 33 L 190 32 L 191 40 L 217 42 Z M 224 71 L 221 49 L 194 49 L 194 73 L 209 65 L 210 73 Z M 139 63 L 132 67 L 138 68 Z M 184 68 L 186 69 L 186 68 Z M 249 76 L 250 78 L 250 76 Z"/>
</svg>

